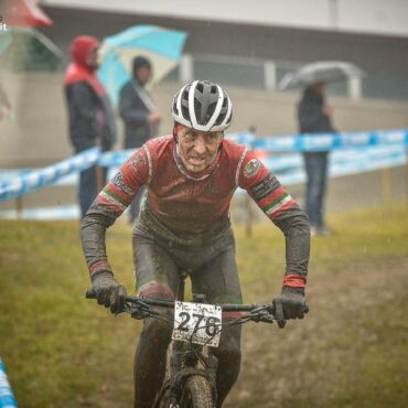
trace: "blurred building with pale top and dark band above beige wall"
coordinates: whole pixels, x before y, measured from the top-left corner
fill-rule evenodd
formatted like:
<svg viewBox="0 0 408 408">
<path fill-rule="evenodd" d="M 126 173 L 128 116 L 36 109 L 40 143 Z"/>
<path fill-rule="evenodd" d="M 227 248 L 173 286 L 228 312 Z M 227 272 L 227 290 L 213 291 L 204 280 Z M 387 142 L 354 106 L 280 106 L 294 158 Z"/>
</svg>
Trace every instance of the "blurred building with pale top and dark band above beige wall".
<svg viewBox="0 0 408 408">
<path fill-rule="evenodd" d="M 284 73 L 319 60 L 359 65 L 358 86 L 337 95 L 408 100 L 406 0 L 42 0 L 47 35 L 67 50 L 79 33 L 104 37 L 138 23 L 189 32 L 182 69 L 169 79 L 211 77 L 275 88 Z"/>
</svg>

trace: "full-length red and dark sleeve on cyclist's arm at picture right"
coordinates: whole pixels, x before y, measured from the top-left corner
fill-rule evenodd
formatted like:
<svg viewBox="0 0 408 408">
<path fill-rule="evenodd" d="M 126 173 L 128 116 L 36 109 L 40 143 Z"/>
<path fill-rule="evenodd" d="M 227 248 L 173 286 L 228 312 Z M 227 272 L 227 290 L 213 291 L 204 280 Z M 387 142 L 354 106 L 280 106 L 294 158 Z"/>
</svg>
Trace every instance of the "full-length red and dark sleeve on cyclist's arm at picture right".
<svg viewBox="0 0 408 408">
<path fill-rule="evenodd" d="M 259 208 L 284 234 L 283 284 L 303 288 L 310 253 L 310 227 L 303 211 L 253 152 L 245 153 L 238 180 L 238 185 L 248 192 Z"/>
</svg>

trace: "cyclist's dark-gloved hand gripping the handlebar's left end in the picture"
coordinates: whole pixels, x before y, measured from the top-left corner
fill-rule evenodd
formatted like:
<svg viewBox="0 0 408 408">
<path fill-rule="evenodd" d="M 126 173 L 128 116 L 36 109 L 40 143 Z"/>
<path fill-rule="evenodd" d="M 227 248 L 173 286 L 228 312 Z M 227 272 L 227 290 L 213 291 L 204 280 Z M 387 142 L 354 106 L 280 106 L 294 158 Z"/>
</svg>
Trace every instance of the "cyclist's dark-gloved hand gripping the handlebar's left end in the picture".
<svg viewBox="0 0 408 408">
<path fill-rule="evenodd" d="M 120 312 L 125 307 L 126 289 L 120 284 L 111 272 L 99 272 L 92 279 L 93 290 L 98 304 L 110 308 L 112 313 Z"/>
</svg>

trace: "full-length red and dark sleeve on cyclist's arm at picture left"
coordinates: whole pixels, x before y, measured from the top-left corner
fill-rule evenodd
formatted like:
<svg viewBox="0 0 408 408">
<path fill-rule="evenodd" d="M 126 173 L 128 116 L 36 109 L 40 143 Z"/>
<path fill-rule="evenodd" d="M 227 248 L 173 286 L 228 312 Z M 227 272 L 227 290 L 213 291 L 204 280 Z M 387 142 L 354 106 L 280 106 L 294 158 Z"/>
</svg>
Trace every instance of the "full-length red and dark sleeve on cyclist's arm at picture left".
<svg viewBox="0 0 408 408">
<path fill-rule="evenodd" d="M 124 213 L 140 186 L 149 183 L 150 172 L 148 148 L 143 146 L 119 168 L 84 216 L 80 238 L 90 276 L 111 272 L 105 247 L 106 229 Z"/>
</svg>

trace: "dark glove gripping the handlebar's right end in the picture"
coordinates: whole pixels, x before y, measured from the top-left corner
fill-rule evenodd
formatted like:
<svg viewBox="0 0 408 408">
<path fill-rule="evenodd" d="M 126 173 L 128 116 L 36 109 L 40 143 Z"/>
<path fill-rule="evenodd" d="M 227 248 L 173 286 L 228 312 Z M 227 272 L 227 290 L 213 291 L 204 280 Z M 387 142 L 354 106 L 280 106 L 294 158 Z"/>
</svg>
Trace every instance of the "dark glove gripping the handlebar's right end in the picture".
<svg viewBox="0 0 408 408">
<path fill-rule="evenodd" d="M 288 319 L 303 319 L 309 309 L 304 301 L 304 289 L 283 287 L 281 293 L 273 300 L 275 319 L 279 328 L 284 328 Z"/>
</svg>

